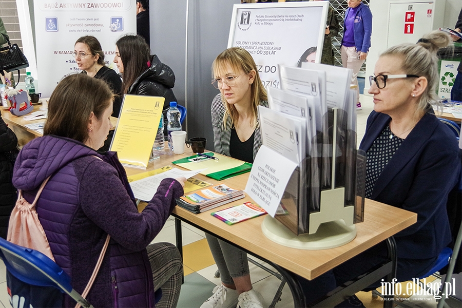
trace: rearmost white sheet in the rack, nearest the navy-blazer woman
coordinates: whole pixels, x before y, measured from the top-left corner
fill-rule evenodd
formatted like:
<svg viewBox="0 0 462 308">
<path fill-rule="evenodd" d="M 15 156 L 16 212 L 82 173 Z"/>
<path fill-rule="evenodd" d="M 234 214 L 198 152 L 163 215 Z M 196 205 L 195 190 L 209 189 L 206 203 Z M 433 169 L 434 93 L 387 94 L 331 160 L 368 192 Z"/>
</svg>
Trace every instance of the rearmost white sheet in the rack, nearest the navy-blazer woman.
<svg viewBox="0 0 462 308">
<path fill-rule="evenodd" d="M 351 69 L 309 62 L 303 62 L 302 68 L 324 71 L 327 106 L 345 109 L 344 102 L 347 100 L 347 93 L 351 83 Z"/>
</svg>

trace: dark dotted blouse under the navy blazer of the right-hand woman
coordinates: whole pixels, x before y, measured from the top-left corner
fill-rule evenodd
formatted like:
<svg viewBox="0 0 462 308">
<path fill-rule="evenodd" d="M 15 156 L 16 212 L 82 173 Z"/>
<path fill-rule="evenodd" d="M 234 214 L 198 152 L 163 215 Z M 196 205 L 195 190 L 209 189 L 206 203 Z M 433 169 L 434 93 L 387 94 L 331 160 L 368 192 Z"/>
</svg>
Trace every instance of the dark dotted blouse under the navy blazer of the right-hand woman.
<svg viewBox="0 0 462 308">
<path fill-rule="evenodd" d="M 396 137 L 386 126 L 368 150 L 364 196 L 371 198 L 375 182 L 404 139 Z"/>
</svg>

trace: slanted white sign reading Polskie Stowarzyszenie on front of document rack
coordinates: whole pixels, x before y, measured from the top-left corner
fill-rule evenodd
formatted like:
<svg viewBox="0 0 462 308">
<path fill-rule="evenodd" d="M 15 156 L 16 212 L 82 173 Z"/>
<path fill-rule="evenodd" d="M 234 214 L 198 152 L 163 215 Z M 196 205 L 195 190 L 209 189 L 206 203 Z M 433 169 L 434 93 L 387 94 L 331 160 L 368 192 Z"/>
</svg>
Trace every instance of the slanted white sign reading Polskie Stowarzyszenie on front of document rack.
<svg viewBox="0 0 462 308">
<path fill-rule="evenodd" d="M 285 187 L 298 164 L 262 145 L 244 191 L 274 217 Z"/>
</svg>

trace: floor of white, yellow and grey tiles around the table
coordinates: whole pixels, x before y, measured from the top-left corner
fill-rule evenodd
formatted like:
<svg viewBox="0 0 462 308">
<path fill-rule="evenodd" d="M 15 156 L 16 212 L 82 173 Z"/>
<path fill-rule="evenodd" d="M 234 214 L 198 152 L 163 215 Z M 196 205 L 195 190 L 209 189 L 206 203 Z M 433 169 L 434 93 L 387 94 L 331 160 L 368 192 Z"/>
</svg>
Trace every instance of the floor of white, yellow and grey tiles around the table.
<svg viewBox="0 0 462 308">
<path fill-rule="evenodd" d="M 358 146 L 364 134 L 367 117 L 373 109 L 371 97 L 360 95 L 360 101 L 362 110 L 357 111 Z M 204 233 L 185 223 L 182 224 L 182 229 L 185 279 L 178 306 L 185 308 L 199 307 L 211 295 L 211 291 L 215 285 L 220 284 L 220 279 L 214 277 L 217 267 L 208 249 Z M 164 228 L 156 237 L 155 241 L 175 243 L 175 225 L 173 218 L 170 218 L 165 223 Z M 263 295 L 265 305 L 268 306 L 276 293 L 280 281 L 252 263 L 249 264 L 249 267 L 251 269 L 253 286 Z M 5 276 L 5 265 L 3 262 L 0 262 L 0 308 L 11 306 L 6 290 Z M 383 306 L 383 302 L 380 299 L 372 298 L 371 292 L 360 292 L 357 295 L 368 308 Z M 436 306 L 434 300 L 420 301 L 419 304 L 423 307 Z M 293 306 L 294 303 L 291 292 L 287 285 L 285 285 L 281 301 L 276 304 L 276 307 Z"/>
</svg>

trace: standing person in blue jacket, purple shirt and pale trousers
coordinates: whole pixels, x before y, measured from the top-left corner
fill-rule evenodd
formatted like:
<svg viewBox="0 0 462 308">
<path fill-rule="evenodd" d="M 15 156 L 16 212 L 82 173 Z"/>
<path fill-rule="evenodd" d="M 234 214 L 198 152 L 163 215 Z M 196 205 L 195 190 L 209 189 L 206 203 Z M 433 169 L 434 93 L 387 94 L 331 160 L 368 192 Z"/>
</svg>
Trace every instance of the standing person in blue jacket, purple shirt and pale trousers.
<svg viewBox="0 0 462 308">
<path fill-rule="evenodd" d="M 351 68 L 351 83 L 355 84 L 358 101 L 356 109 L 361 110 L 359 102 L 358 73 L 368 56 L 371 47 L 372 13 L 361 0 L 348 0 L 348 9 L 343 22 L 343 38 L 340 53 L 343 67 Z"/>
</svg>

